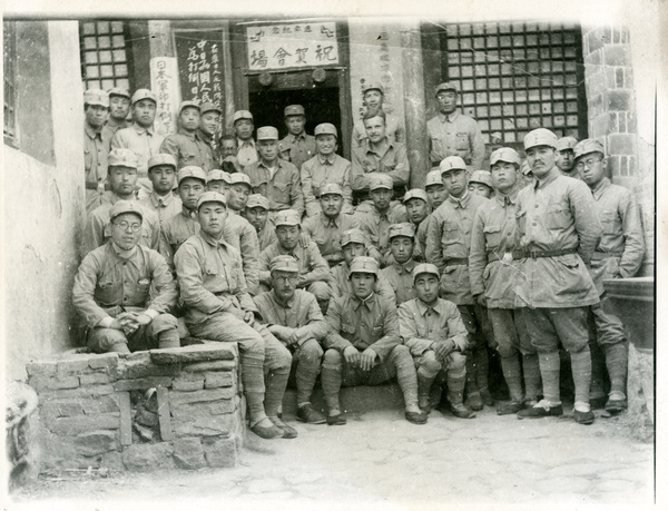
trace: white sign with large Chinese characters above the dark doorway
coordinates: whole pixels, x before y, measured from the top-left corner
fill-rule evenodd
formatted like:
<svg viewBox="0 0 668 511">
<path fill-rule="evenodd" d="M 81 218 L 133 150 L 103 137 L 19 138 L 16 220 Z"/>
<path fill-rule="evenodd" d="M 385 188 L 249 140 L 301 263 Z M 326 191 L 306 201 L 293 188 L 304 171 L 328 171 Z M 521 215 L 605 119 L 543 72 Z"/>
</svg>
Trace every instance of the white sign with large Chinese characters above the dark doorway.
<svg viewBox="0 0 668 511">
<path fill-rule="evenodd" d="M 246 43 L 250 71 L 338 63 L 333 21 L 246 27 Z"/>
</svg>

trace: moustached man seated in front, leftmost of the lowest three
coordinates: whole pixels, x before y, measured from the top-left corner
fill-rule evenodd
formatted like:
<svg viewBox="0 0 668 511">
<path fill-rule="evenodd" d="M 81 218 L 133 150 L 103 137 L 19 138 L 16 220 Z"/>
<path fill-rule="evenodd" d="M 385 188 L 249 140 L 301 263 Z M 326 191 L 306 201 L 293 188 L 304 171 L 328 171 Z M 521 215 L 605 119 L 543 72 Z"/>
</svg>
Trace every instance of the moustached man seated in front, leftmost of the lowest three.
<svg viewBox="0 0 668 511">
<path fill-rule="evenodd" d="M 312 406 L 311 394 L 320 372 L 323 357 L 320 342 L 327 333 L 327 324 L 315 296 L 307 291 L 297 289 L 297 259 L 288 255 L 276 256 L 269 267 L 272 291 L 253 299 L 268 331 L 293 354 L 297 382 L 297 419 L 311 424 L 323 424 L 325 416 Z"/>
</svg>

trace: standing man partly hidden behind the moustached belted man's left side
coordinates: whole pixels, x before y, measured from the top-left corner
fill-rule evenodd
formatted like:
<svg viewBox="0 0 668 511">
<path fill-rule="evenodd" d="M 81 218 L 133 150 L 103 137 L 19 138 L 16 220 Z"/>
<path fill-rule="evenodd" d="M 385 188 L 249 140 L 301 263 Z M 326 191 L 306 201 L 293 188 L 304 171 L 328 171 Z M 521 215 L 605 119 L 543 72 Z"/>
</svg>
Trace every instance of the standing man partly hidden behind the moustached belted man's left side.
<svg viewBox="0 0 668 511">
<path fill-rule="evenodd" d="M 480 206 L 473 218 L 469 275 L 471 293 L 488 315 L 501 355 L 501 370 L 510 391 L 510 403 L 497 406 L 499 415 L 534 405 L 540 393 L 538 355 L 527 334 L 522 308 L 515 308 L 515 284 L 524 257 L 517 246 L 518 181 L 520 155 L 502 147 L 490 156 L 497 196 Z M 520 366 L 520 354 L 522 362 Z M 522 392 L 522 367 L 525 394 Z"/>
</svg>

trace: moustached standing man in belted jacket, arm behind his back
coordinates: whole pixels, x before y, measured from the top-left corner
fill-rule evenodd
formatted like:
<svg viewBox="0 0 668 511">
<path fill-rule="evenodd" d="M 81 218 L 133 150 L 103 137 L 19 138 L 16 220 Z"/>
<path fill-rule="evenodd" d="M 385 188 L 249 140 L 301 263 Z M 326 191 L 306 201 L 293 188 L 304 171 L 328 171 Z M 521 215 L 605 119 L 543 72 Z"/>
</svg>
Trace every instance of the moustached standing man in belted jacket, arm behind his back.
<svg viewBox="0 0 668 511">
<path fill-rule="evenodd" d="M 544 128 L 524 137 L 536 184 L 518 194 L 519 248 L 527 253 L 517 287 L 527 330 L 538 352 L 543 399 L 518 417 L 561 415 L 559 343 L 570 353 L 576 402 L 573 416 L 591 424 L 591 357 L 587 344 L 588 307 L 599 303 L 587 266 L 601 236 L 591 191 L 557 167 L 557 136 Z"/>
</svg>

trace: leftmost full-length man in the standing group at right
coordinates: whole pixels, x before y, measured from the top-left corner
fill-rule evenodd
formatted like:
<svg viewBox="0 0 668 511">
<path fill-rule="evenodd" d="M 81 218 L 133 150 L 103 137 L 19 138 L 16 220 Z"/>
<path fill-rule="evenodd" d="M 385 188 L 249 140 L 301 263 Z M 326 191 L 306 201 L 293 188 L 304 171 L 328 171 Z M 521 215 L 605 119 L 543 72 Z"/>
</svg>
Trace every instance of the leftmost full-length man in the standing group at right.
<svg viewBox="0 0 668 511">
<path fill-rule="evenodd" d="M 433 213 L 429 224 L 425 261 L 435 264 L 441 272 L 441 296 L 459 307 L 469 332 L 466 404 L 473 410 L 482 410 L 483 404 L 493 404 L 488 387 L 487 345 L 491 335 L 485 335 L 484 307 L 471 294 L 469 248 L 473 216 L 489 200 L 469 191 L 466 164 L 459 156 L 449 156 L 441 161 L 441 170 L 443 186 L 450 196 Z"/>
</svg>

